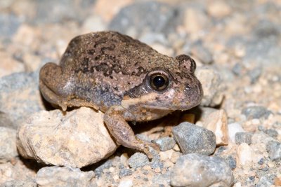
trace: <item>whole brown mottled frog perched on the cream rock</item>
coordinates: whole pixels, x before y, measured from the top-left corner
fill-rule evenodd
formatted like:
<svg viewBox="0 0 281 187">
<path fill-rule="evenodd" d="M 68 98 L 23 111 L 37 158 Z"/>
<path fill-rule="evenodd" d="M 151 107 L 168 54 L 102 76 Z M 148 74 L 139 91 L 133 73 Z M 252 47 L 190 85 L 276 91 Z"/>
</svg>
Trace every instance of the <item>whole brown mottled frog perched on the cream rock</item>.
<svg viewBox="0 0 281 187">
<path fill-rule="evenodd" d="M 41 67 L 39 89 L 63 111 L 80 106 L 102 111 L 118 145 L 153 158 L 151 150 L 159 146 L 136 137 L 129 123 L 200 104 L 203 90 L 195 69 L 189 55 L 169 57 L 119 32 L 91 32 L 74 37 L 58 64 Z"/>
</svg>

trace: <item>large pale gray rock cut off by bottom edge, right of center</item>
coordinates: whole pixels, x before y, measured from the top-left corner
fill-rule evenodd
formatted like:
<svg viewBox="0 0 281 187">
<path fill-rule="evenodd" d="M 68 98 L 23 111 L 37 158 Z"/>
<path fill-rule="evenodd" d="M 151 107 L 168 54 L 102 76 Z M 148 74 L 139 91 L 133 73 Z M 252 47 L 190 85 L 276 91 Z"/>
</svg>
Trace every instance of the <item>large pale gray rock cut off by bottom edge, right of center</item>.
<svg viewBox="0 0 281 187">
<path fill-rule="evenodd" d="M 232 186 L 233 172 L 222 158 L 192 153 L 171 170 L 172 186 Z"/>
</svg>

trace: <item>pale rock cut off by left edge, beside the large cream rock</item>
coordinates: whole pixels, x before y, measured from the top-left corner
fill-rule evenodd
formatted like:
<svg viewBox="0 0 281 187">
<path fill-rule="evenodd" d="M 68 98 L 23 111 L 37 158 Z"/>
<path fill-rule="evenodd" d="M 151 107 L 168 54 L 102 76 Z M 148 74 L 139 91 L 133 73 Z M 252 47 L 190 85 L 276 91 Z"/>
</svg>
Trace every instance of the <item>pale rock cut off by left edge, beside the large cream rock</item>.
<svg viewBox="0 0 281 187">
<path fill-rule="evenodd" d="M 16 140 L 16 130 L 0 127 L 0 163 L 7 162 L 18 155 Z"/>
</svg>

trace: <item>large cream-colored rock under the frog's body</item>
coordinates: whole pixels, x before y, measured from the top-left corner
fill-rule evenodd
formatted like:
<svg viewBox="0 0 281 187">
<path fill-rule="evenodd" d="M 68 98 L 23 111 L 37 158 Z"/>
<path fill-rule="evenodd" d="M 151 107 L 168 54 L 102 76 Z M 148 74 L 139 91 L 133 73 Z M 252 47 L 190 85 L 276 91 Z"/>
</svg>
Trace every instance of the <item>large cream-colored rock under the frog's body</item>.
<svg viewBox="0 0 281 187">
<path fill-rule="evenodd" d="M 51 165 L 84 167 L 107 158 L 117 146 L 103 123 L 103 113 L 90 108 L 34 113 L 19 127 L 17 146 L 24 158 Z"/>
</svg>

